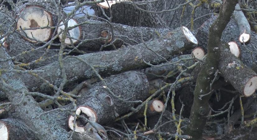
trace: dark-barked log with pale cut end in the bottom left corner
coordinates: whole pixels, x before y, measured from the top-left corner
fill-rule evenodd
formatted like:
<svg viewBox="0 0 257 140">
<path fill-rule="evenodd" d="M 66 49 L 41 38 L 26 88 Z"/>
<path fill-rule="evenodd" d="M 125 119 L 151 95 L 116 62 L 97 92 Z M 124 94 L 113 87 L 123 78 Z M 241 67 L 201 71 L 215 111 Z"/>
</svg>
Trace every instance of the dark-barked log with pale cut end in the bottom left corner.
<svg viewBox="0 0 257 140">
<path fill-rule="evenodd" d="M 35 133 L 29 126 L 18 119 L 0 120 L 1 140 L 36 140 Z"/>
</svg>

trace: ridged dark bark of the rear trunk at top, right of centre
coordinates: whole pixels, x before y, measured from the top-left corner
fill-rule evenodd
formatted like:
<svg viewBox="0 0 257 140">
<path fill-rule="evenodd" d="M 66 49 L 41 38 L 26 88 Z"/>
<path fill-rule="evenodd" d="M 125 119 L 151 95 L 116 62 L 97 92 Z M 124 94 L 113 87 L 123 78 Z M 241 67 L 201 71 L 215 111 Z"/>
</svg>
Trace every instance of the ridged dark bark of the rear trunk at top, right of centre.
<svg viewBox="0 0 257 140">
<path fill-rule="evenodd" d="M 162 11 L 162 10 L 169 10 L 174 9 L 178 7 L 177 4 L 183 4 L 186 1 L 181 0 L 158 0 L 153 4 L 155 7 L 155 11 Z M 176 3 L 176 4 L 174 4 Z M 183 6 L 179 7 L 177 10 L 171 11 L 171 12 L 164 12 L 161 13 L 161 18 L 166 22 L 167 26 L 171 29 L 175 29 L 179 26 L 186 26 L 191 21 L 191 13 L 193 10 L 193 7 L 190 5 L 186 5 L 183 17 L 181 19 L 180 23 L 180 16 L 183 10 Z M 208 14 L 210 10 L 207 8 L 207 5 L 202 4 L 200 7 L 195 9 L 193 18 L 197 18 L 200 16 L 203 16 L 205 14 Z M 202 23 L 207 20 L 210 16 L 204 16 L 199 20 L 194 21 L 194 28 L 197 29 Z M 190 24 L 187 26 L 190 27 Z"/>
</svg>

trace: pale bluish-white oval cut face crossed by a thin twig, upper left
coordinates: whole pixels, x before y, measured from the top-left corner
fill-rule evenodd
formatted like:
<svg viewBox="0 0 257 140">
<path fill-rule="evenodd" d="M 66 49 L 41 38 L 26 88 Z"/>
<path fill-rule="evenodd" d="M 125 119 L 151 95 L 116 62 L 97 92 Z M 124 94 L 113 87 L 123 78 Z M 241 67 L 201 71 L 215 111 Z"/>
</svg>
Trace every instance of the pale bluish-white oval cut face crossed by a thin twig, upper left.
<svg viewBox="0 0 257 140">
<path fill-rule="evenodd" d="M 60 25 L 62 25 L 62 24 L 63 24 L 63 22 L 60 23 Z M 76 26 L 77 24 L 78 24 L 78 22 L 77 22 L 76 20 L 74 20 L 74 19 L 70 19 L 70 20 L 68 21 L 68 27 L 73 27 L 73 26 Z M 58 27 L 58 30 L 57 30 L 58 34 L 59 34 L 62 30 L 64 30 L 64 25 Z M 69 34 L 68 34 L 67 36 L 70 36 L 70 37 L 71 37 L 71 40 L 72 40 L 72 42 L 73 42 L 74 44 L 77 43 L 78 40 L 79 40 L 79 38 L 80 38 L 80 36 L 81 36 L 81 29 L 80 29 L 80 26 L 77 26 L 77 27 L 75 27 L 75 28 L 69 30 Z M 60 40 L 62 39 L 62 33 L 59 35 L 59 39 L 60 39 Z M 69 44 L 69 45 L 71 44 L 71 41 L 70 41 L 70 38 L 69 38 L 69 37 L 67 37 L 64 42 L 65 42 L 66 44 Z"/>
</svg>

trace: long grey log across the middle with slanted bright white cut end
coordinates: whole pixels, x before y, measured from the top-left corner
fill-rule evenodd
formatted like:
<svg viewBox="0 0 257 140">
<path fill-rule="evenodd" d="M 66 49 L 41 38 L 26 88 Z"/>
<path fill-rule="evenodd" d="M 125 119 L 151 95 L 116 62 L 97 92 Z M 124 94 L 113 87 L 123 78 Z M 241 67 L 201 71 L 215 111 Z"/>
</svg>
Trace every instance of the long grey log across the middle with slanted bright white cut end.
<svg viewBox="0 0 257 140">
<path fill-rule="evenodd" d="M 164 62 L 164 59 L 156 56 L 155 53 L 169 59 L 175 54 L 193 48 L 193 45 L 198 44 L 198 41 L 187 28 L 180 27 L 169 32 L 167 35 L 149 40 L 145 42 L 145 44 L 151 50 L 147 49 L 144 44 L 138 44 L 114 51 L 65 58 L 64 69 L 66 71 L 67 80 L 68 82 L 74 82 L 79 79 L 85 80 L 87 78 L 95 77 L 95 72 L 93 72 L 83 61 L 86 61 L 91 65 L 98 65 L 95 69 L 102 76 L 110 75 L 132 69 L 144 68 L 147 66 L 144 61 L 152 64 Z M 50 83 L 56 86 L 59 86 L 61 83 L 62 74 L 59 68 L 59 62 L 51 63 L 38 70 L 45 70 L 44 73 L 37 74 L 48 80 Z M 21 79 L 31 91 L 46 91 L 49 89 L 48 84 L 42 84 L 39 79 L 29 74 L 21 74 Z"/>
</svg>

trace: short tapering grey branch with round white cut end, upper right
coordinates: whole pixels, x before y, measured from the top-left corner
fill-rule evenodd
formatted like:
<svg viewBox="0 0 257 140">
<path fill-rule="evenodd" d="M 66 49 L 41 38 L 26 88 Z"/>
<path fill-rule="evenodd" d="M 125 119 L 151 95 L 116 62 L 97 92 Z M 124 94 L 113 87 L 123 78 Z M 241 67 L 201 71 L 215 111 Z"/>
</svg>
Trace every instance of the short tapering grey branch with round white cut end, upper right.
<svg viewBox="0 0 257 140">
<path fill-rule="evenodd" d="M 238 40 L 240 43 L 248 44 L 251 39 L 251 27 L 244 13 L 240 9 L 241 8 L 239 4 L 237 3 L 233 16 L 237 25 L 239 26 L 240 35 L 238 37 Z"/>
</svg>

